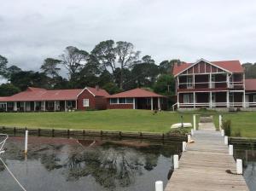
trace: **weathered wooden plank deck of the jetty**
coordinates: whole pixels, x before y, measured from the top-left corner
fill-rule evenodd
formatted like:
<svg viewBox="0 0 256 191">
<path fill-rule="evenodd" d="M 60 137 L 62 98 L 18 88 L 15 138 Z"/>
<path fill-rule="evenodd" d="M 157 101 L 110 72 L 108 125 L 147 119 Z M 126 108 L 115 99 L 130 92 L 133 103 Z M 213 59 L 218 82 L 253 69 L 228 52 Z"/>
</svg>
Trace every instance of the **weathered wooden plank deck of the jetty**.
<svg viewBox="0 0 256 191">
<path fill-rule="evenodd" d="M 214 124 L 199 125 L 179 160 L 179 168 L 167 182 L 165 191 L 173 190 L 248 190 L 241 175 L 236 173 L 236 161 L 224 145 L 224 137 L 215 130 Z"/>
</svg>

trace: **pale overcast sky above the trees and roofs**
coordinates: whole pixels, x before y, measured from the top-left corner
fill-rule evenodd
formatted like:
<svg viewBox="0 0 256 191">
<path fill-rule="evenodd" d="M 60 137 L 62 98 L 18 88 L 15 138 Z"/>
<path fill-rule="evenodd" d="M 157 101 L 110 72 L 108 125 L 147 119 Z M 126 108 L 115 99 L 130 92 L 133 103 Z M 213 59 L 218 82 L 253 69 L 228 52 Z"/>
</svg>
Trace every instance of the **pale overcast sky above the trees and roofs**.
<svg viewBox="0 0 256 191">
<path fill-rule="evenodd" d="M 68 45 L 90 51 L 107 39 L 131 42 L 157 62 L 256 62 L 256 1 L 1 1 L 0 55 L 24 70 Z"/>
</svg>

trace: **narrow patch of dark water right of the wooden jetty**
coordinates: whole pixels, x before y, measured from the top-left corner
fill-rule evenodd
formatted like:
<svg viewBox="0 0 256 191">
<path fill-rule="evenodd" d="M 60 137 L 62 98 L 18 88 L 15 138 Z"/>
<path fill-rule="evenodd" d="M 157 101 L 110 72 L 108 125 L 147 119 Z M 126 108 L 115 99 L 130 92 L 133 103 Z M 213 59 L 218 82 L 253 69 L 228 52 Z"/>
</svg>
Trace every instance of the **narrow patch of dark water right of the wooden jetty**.
<svg viewBox="0 0 256 191">
<path fill-rule="evenodd" d="M 250 190 L 256 190 L 256 151 L 253 147 L 235 146 L 234 158 L 242 159 L 243 177 Z"/>
</svg>

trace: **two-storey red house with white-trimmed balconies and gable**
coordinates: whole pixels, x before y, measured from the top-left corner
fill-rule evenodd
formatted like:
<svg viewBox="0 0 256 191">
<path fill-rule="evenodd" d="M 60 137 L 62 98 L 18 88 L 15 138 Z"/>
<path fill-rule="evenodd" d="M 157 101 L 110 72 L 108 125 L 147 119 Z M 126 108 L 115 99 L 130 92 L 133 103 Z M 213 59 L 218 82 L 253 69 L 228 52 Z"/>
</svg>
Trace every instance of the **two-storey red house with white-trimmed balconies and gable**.
<svg viewBox="0 0 256 191">
<path fill-rule="evenodd" d="M 245 79 L 240 61 L 180 63 L 173 75 L 174 107 L 256 107 L 256 79 Z"/>
</svg>

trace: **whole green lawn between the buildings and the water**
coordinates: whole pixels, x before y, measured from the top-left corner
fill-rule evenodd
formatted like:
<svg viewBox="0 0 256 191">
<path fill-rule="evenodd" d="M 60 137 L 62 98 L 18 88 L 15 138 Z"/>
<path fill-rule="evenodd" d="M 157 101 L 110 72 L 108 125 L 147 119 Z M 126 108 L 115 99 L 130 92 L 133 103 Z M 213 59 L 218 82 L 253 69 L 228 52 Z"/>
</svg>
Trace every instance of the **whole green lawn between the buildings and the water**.
<svg viewBox="0 0 256 191">
<path fill-rule="evenodd" d="M 192 114 L 213 115 L 218 129 L 218 115 L 231 120 L 231 134 L 256 137 L 256 112 L 218 113 L 198 110 L 194 112 L 160 112 L 147 110 L 103 110 L 71 113 L 0 113 L 0 126 L 28 128 L 61 128 L 84 130 L 121 130 L 168 132 L 172 124 L 192 123 Z M 240 132 L 240 133 L 238 133 Z"/>
</svg>

